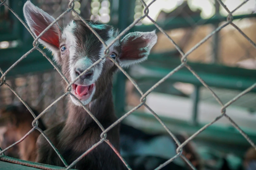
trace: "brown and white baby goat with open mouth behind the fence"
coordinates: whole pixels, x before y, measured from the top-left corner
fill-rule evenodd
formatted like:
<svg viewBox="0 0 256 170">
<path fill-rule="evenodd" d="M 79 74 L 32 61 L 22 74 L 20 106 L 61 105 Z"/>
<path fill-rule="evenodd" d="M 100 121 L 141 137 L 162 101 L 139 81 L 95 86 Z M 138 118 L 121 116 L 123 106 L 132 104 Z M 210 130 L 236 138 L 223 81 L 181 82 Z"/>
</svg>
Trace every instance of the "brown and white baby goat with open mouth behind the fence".
<svg viewBox="0 0 256 170">
<path fill-rule="evenodd" d="M 28 26 L 36 36 L 54 21 L 53 17 L 30 1 L 25 3 L 23 11 Z M 88 24 L 107 45 L 118 35 L 118 31 L 112 26 L 98 21 L 88 21 Z M 111 46 L 110 57 L 122 67 L 128 67 L 146 60 L 156 41 L 154 31 L 129 33 Z M 63 29 L 56 23 L 40 37 L 39 42 L 52 51 L 54 60 L 61 66 L 62 73 L 69 82 L 104 56 L 104 46 L 82 21 L 71 21 Z M 117 120 L 112 101 L 112 78 L 117 70 L 118 67 L 106 58 L 72 85 L 72 94 L 91 111 L 104 128 Z M 62 86 L 66 89 L 67 84 L 63 81 Z M 72 96 L 70 99 L 67 120 L 45 131 L 68 164 L 100 141 L 102 133 L 82 106 Z M 119 125 L 107 133 L 107 139 L 120 150 Z M 42 135 L 37 140 L 37 146 L 37 162 L 63 166 Z M 124 169 L 124 165 L 115 152 L 103 142 L 79 161 L 75 168 L 120 170 Z"/>
</svg>

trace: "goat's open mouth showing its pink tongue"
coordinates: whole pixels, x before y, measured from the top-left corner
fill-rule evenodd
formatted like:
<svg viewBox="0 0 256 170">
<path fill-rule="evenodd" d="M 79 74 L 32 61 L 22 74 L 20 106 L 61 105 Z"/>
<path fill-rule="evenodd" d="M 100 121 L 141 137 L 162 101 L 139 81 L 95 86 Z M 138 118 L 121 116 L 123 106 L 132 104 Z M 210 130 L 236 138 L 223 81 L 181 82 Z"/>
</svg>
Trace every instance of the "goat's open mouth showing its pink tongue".
<svg viewBox="0 0 256 170">
<path fill-rule="evenodd" d="M 94 84 L 91 84 L 89 86 L 72 84 L 72 91 L 73 91 L 73 94 L 79 100 L 87 100 L 90 97 L 94 86 L 95 86 Z"/>
</svg>

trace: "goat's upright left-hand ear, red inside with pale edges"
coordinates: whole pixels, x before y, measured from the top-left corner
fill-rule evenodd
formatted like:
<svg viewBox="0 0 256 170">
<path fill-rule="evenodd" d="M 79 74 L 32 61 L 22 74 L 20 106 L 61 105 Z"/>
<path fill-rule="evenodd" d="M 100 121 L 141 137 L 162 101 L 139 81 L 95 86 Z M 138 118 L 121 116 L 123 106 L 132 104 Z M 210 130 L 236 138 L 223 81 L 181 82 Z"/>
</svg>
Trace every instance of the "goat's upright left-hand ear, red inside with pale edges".
<svg viewBox="0 0 256 170">
<path fill-rule="evenodd" d="M 43 30 L 55 20 L 30 1 L 24 4 L 23 13 L 29 28 L 36 36 L 43 32 Z M 59 51 L 59 36 L 60 27 L 56 23 L 40 37 L 39 42 L 53 53 L 56 53 Z"/>
</svg>

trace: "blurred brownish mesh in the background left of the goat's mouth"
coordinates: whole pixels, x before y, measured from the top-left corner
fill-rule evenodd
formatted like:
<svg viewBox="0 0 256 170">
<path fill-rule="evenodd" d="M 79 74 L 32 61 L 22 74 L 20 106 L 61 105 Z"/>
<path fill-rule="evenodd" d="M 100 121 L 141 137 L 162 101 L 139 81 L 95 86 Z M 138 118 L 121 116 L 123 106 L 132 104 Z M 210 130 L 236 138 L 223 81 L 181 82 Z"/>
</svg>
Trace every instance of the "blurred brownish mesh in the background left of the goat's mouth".
<svg viewBox="0 0 256 170">
<path fill-rule="evenodd" d="M 41 112 L 63 94 L 63 90 L 58 88 L 60 78 L 57 72 L 46 71 L 8 78 L 6 82 L 29 106 Z M 7 86 L 2 86 L 0 88 L 0 109 L 15 103 L 20 103 L 20 100 Z M 42 120 L 49 127 L 65 120 L 66 117 L 66 103 L 65 99 L 62 99 L 42 117 Z"/>
</svg>

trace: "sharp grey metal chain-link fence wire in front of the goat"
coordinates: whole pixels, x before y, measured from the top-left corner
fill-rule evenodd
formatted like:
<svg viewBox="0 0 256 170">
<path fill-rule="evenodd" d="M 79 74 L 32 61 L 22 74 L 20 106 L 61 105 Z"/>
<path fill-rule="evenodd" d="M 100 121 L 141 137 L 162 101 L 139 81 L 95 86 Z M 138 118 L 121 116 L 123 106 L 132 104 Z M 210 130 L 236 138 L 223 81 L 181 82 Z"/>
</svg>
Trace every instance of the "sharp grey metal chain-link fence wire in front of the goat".
<svg viewBox="0 0 256 170">
<path fill-rule="evenodd" d="M 29 27 L 26 25 L 26 23 L 24 21 L 22 21 L 22 19 L 15 13 L 15 11 L 13 9 L 11 9 L 8 4 L 6 4 L 6 0 L 1 0 L 1 6 L 5 6 L 7 7 L 18 19 L 19 21 L 22 22 L 22 24 L 26 27 L 26 29 L 30 32 L 30 34 L 33 36 L 33 38 L 35 39 L 33 42 L 33 48 L 31 50 L 29 50 L 27 53 L 25 53 L 18 61 L 16 61 L 11 67 L 8 68 L 8 70 L 6 72 L 3 72 L 3 70 L 0 68 L 0 72 L 2 74 L 1 78 L 0 78 L 0 86 L 5 85 L 7 86 L 19 99 L 20 101 L 27 107 L 27 109 L 30 111 L 30 113 L 33 115 L 33 117 L 35 118 L 32 125 L 33 128 L 26 134 L 24 135 L 24 137 L 22 137 L 19 141 L 15 142 L 14 144 L 12 144 L 11 146 L 7 147 L 6 149 L 1 149 L 0 154 L 4 154 L 4 152 L 8 149 L 10 149 L 11 147 L 17 145 L 18 143 L 20 143 L 21 141 L 23 141 L 31 132 L 33 132 L 34 130 L 38 130 L 40 131 L 40 133 L 46 138 L 46 140 L 50 143 L 50 145 L 52 146 L 52 148 L 56 151 L 57 155 L 59 156 L 59 158 L 61 159 L 61 161 L 64 163 L 64 165 L 66 166 L 66 169 L 71 169 L 79 160 L 81 160 L 84 156 L 86 156 L 90 151 L 92 151 L 93 149 L 95 149 L 99 144 L 106 142 L 114 151 L 115 153 L 119 156 L 119 158 L 122 160 L 122 162 L 125 164 L 125 166 L 128 169 L 131 169 L 130 166 L 126 163 L 126 161 L 122 158 L 122 156 L 120 155 L 120 153 L 117 151 L 117 149 L 114 148 L 114 146 L 106 139 L 106 133 L 113 128 L 114 126 L 116 126 L 118 123 L 120 123 L 124 118 L 126 118 L 127 116 L 129 116 L 131 113 L 133 113 L 136 109 L 138 109 L 140 106 L 144 105 L 146 108 L 148 108 L 151 113 L 153 114 L 153 116 L 162 124 L 162 126 L 166 129 L 166 131 L 168 132 L 169 135 L 171 135 L 171 137 L 174 139 L 174 141 L 177 143 L 178 148 L 176 150 L 176 155 L 172 158 L 170 158 L 168 161 L 166 161 L 165 163 L 159 165 L 156 170 L 161 169 L 162 167 L 164 167 L 165 165 L 167 165 L 168 163 L 172 162 L 174 159 L 178 158 L 178 157 L 182 157 L 185 162 L 192 168 L 192 169 L 196 169 L 192 163 L 186 159 L 186 157 L 182 154 L 182 150 L 183 147 L 189 142 L 191 141 L 195 136 L 199 135 L 202 131 L 204 131 L 206 128 L 208 128 L 210 125 L 212 125 L 213 123 L 215 123 L 216 121 L 218 121 L 219 119 L 221 119 L 222 117 L 225 117 L 227 120 L 229 120 L 231 122 L 231 124 L 240 132 L 241 135 L 244 136 L 244 138 L 250 143 L 250 145 L 256 149 L 256 145 L 253 143 L 253 141 L 248 137 L 248 135 L 226 114 L 226 108 L 228 106 L 230 106 L 233 102 L 235 102 L 236 100 L 238 100 L 240 97 L 242 97 L 243 95 L 245 95 L 246 93 L 250 92 L 253 88 L 256 87 L 256 83 L 254 83 L 253 85 L 251 85 L 248 89 L 244 90 L 243 92 L 241 92 L 240 94 L 238 94 L 236 97 L 234 97 L 233 99 L 231 99 L 229 102 L 227 102 L 226 104 L 222 103 L 221 100 L 219 99 L 219 97 L 216 95 L 216 93 L 205 83 L 205 81 L 200 78 L 200 76 L 193 70 L 193 68 L 191 68 L 188 64 L 187 64 L 187 56 L 193 52 L 194 50 L 196 50 L 200 45 L 202 45 L 205 41 L 207 41 L 210 37 L 212 37 L 215 33 L 219 32 L 222 28 L 226 27 L 227 25 L 232 25 L 236 30 L 238 30 L 253 46 L 254 48 L 256 48 L 256 44 L 247 36 L 245 35 L 242 30 L 240 28 L 238 28 L 232 21 L 233 21 L 233 16 L 232 14 L 241 6 L 243 6 L 246 2 L 248 2 L 248 0 L 245 0 L 243 3 L 241 3 L 238 7 L 236 7 L 234 10 L 230 11 L 225 4 L 221 1 L 221 0 L 217 0 L 217 2 L 226 9 L 226 11 L 229 13 L 227 16 L 227 21 L 217 27 L 212 33 L 210 33 L 209 35 L 207 35 L 206 37 L 204 37 L 199 43 L 197 43 L 193 48 L 191 48 L 190 50 L 188 50 L 186 53 L 184 53 L 181 48 L 173 41 L 173 39 L 168 36 L 168 34 L 148 15 L 149 14 L 149 7 L 156 1 L 153 0 L 151 3 L 149 3 L 148 5 L 146 5 L 146 3 L 143 0 L 139 0 L 142 5 L 145 7 L 144 10 L 144 15 L 139 17 L 138 19 L 136 19 L 132 24 L 130 24 L 127 28 L 125 28 L 113 41 L 112 43 L 110 43 L 108 46 L 105 44 L 104 40 L 93 30 L 93 28 L 91 28 L 91 26 L 84 20 L 83 17 L 81 17 L 81 15 L 79 13 L 77 13 L 73 8 L 74 8 L 74 0 L 70 0 L 69 5 L 68 5 L 68 9 L 63 12 L 59 17 L 56 18 L 55 21 L 53 21 L 39 36 L 35 36 L 32 31 L 29 29 Z M 55 24 L 58 20 L 60 20 L 61 17 L 63 17 L 64 15 L 66 15 L 69 12 L 73 12 L 77 15 L 77 17 L 79 17 L 86 25 L 87 27 L 98 37 L 98 39 L 102 42 L 102 44 L 104 45 L 104 47 L 106 48 L 106 50 L 104 51 L 105 56 L 100 58 L 98 61 L 96 61 L 94 64 L 92 64 L 87 70 L 85 70 L 82 74 L 80 74 L 74 81 L 72 82 L 68 82 L 67 78 L 64 77 L 64 75 L 61 73 L 61 71 L 59 70 L 59 68 L 52 62 L 52 60 L 43 52 L 42 49 L 39 48 L 39 42 L 38 39 L 47 31 L 50 29 L 50 27 Z M 150 19 L 152 21 L 152 23 L 165 35 L 168 37 L 168 39 L 171 41 L 171 43 L 175 46 L 175 48 L 179 51 L 179 53 L 182 55 L 181 58 L 181 63 L 179 66 L 177 66 L 174 70 L 172 70 L 171 72 L 169 72 L 165 77 L 163 77 L 160 81 L 158 81 L 155 85 L 153 85 L 147 92 L 143 93 L 139 86 L 136 84 L 136 82 L 133 80 L 133 78 L 131 78 L 127 72 L 122 69 L 120 67 L 120 65 L 113 60 L 111 57 L 109 57 L 109 47 L 111 45 L 113 45 L 115 43 L 115 41 L 117 41 L 122 35 L 124 35 L 126 32 L 128 32 L 133 26 L 136 25 L 136 23 L 138 23 L 140 20 L 142 20 L 143 18 L 147 17 L 148 19 Z M 36 117 L 36 115 L 33 113 L 33 111 L 30 109 L 30 107 L 24 102 L 24 100 L 20 97 L 20 95 L 7 83 L 6 81 L 6 75 L 8 74 L 8 72 L 15 67 L 18 63 L 20 63 L 25 57 L 27 57 L 32 51 L 34 50 L 38 50 L 40 51 L 40 53 L 42 53 L 42 55 L 54 66 L 54 68 L 58 71 L 58 73 L 61 75 L 61 77 L 66 81 L 66 83 L 68 84 L 68 87 L 66 89 L 66 92 L 64 92 L 64 94 L 62 94 L 58 99 L 56 99 L 52 104 L 50 104 L 47 108 L 45 108 L 45 110 L 43 110 L 39 116 Z M 71 86 L 72 84 L 78 80 L 81 76 L 83 76 L 87 71 L 89 71 L 92 67 L 94 67 L 96 64 L 100 63 L 102 60 L 104 60 L 104 58 L 109 58 L 112 62 L 114 62 L 116 64 L 116 66 L 124 73 L 124 75 L 133 83 L 133 85 L 136 87 L 136 89 L 138 90 L 138 92 L 141 94 L 141 98 L 140 98 L 140 104 L 137 105 L 136 107 L 134 107 L 132 110 L 130 110 L 129 112 L 125 113 L 122 117 L 120 117 L 116 122 L 114 122 L 111 126 L 109 126 L 108 128 L 104 129 L 103 126 L 101 125 L 101 123 L 93 116 L 93 114 L 88 110 L 88 108 L 86 108 L 85 106 L 82 105 L 82 103 L 71 93 Z M 212 120 L 210 123 L 206 124 L 205 126 L 203 126 L 200 130 L 198 130 L 195 134 L 191 135 L 186 141 L 184 141 L 183 143 L 180 143 L 177 138 L 175 137 L 175 135 L 173 135 L 173 133 L 168 129 L 168 127 L 165 125 L 165 123 L 158 117 L 158 115 L 150 108 L 150 106 L 148 106 L 145 102 L 146 102 L 146 97 L 147 95 L 149 95 L 157 86 L 159 86 L 162 82 L 164 82 L 168 77 L 172 76 L 175 72 L 179 71 L 181 68 L 186 67 L 188 70 L 190 70 L 191 73 L 193 73 L 193 75 L 202 83 L 202 85 L 204 87 L 206 87 L 214 96 L 214 98 L 216 99 L 216 101 L 221 105 L 221 110 L 220 110 L 220 115 L 217 116 L 214 120 Z M 101 134 L 101 140 L 98 141 L 97 143 L 95 143 L 90 149 L 88 149 L 85 153 L 83 153 L 80 157 L 78 157 L 74 162 L 72 162 L 70 165 L 68 165 L 66 163 L 66 161 L 63 159 L 63 157 L 60 155 L 60 153 L 58 152 L 58 150 L 56 149 L 56 147 L 52 144 L 52 142 L 49 140 L 49 138 L 43 133 L 43 131 L 38 127 L 38 120 L 40 117 L 42 117 L 51 107 L 53 107 L 58 101 L 60 101 L 61 99 L 63 99 L 65 96 L 67 95 L 72 95 L 73 98 L 76 98 L 76 100 L 81 104 L 81 106 L 88 112 L 88 114 L 92 117 L 92 119 L 99 125 L 99 127 L 102 129 L 102 134 Z"/>
</svg>

